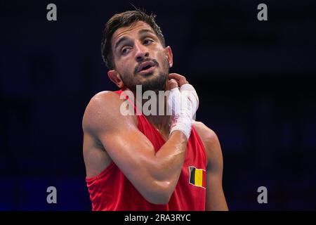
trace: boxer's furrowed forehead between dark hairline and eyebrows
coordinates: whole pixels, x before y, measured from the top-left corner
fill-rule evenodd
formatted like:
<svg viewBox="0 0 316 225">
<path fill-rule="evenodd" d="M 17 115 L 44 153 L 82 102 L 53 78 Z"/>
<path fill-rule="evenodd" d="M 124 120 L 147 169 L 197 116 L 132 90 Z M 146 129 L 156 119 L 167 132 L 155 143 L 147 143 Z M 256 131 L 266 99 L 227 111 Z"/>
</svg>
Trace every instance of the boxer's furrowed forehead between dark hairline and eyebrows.
<svg viewBox="0 0 316 225">
<path fill-rule="evenodd" d="M 143 21 L 137 21 L 135 23 L 132 23 L 128 27 L 119 27 L 114 34 L 112 35 L 112 44 L 115 44 L 115 42 L 120 38 L 123 37 L 124 35 L 128 34 L 138 34 L 139 30 L 152 30 L 152 27 L 148 25 L 147 23 Z"/>
</svg>

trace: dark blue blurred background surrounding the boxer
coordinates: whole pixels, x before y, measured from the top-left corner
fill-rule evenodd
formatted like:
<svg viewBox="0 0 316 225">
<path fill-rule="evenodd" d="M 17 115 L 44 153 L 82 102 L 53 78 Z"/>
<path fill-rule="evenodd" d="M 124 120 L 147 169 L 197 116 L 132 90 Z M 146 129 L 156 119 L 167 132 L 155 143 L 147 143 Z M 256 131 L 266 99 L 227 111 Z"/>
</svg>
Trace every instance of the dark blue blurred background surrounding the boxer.
<svg viewBox="0 0 316 225">
<path fill-rule="evenodd" d="M 171 72 L 220 139 L 230 210 L 316 210 L 316 4 L 302 1 L 1 1 L 0 210 L 91 210 L 81 118 L 116 90 L 101 32 L 135 6 L 157 14 Z M 57 6 L 57 21 L 46 6 Z M 257 6 L 268 5 L 268 21 Z M 58 190 L 46 203 L 46 188 Z M 258 204 L 257 188 L 268 188 Z"/>
</svg>

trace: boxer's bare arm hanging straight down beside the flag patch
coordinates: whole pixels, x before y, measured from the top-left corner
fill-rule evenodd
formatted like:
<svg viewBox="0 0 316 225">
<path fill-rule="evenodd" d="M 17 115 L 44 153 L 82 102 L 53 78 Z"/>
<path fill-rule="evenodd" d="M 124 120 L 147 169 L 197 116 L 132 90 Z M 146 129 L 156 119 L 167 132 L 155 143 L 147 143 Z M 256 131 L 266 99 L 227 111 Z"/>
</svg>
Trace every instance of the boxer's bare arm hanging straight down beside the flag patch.
<svg viewBox="0 0 316 225">
<path fill-rule="evenodd" d="M 207 155 L 206 210 L 228 210 L 222 187 L 223 155 L 218 137 L 214 131 L 202 122 L 195 122 L 194 126 L 204 143 Z"/>
</svg>

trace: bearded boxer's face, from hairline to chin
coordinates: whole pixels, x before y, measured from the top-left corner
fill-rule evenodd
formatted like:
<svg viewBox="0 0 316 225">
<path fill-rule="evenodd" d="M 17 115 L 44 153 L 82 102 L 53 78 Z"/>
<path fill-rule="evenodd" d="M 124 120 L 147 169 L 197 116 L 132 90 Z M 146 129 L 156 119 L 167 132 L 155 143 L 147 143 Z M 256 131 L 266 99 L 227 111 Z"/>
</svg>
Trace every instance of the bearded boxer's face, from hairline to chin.
<svg viewBox="0 0 316 225">
<path fill-rule="evenodd" d="M 124 87 L 136 91 L 164 91 L 169 75 L 166 50 L 152 30 L 143 21 L 120 27 L 112 36 L 112 55 L 116 72 Z"/>
</svg>

